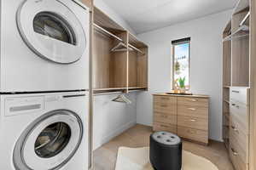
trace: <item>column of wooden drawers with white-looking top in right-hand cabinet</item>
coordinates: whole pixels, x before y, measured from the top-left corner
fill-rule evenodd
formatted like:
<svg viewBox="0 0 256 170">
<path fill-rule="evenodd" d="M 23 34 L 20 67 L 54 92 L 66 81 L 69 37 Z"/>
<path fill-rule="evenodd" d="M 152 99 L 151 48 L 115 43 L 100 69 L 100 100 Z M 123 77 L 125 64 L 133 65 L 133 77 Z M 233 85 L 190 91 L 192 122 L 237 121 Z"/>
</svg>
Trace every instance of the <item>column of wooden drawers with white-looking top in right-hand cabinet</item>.
<svg viewBox="0 0 256 170">
<path fill-rule="evenodd" d="M 230 88 L 230 159 L 236 170 L 249 163 L 249 88 Z"/>
</svg>

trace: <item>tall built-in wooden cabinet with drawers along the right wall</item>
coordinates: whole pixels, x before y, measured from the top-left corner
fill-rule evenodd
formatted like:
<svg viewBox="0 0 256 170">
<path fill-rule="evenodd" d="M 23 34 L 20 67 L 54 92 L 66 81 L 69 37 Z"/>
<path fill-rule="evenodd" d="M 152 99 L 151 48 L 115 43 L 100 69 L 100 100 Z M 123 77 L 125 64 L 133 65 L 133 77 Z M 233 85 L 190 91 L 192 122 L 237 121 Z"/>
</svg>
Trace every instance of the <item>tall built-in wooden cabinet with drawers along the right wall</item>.
<svg viewBox="0 0 256 170">
<path fill-rule="evenodd" d="M 239 1 L 223 33 L 223 139 L 236 170 L 249 169 L 250 17 Z"/>
</svg>

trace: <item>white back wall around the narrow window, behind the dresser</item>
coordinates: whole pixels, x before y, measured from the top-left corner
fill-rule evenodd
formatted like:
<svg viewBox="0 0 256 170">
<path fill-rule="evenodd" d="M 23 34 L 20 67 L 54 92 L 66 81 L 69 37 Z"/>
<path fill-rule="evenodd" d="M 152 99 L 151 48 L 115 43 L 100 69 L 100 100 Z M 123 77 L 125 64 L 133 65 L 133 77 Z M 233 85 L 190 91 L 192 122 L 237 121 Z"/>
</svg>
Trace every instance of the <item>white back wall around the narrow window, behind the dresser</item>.
<svg viewBox="0 0 256 170">
<path fill-rule="evenodd" d="M 172 40 L 191 37 L 190 86 L 210 95 L 210 139 L 222 140 L 222 31 L 231 11 L 138 35 L 149 46 L 149 92 L 137 96 L 137 122 L 152 125 L 154 93 L 171 90 Z"/>
</svg>

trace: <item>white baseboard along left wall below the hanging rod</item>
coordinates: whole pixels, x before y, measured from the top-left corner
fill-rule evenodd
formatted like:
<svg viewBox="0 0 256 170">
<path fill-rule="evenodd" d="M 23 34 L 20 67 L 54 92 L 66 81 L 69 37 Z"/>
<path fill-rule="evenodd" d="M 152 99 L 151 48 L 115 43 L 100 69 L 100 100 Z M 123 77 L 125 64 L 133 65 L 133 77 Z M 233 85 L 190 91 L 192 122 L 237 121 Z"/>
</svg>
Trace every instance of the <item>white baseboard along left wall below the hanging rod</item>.
<svg viewBox="0 0 256 170">
<path fill-rule="evenodd" d="M 117 128 L 116 130 L 112 131 L 112 133 L 108 133 L 108 135 L 104 136 L 101 139 L 101 142 L 99 143 L 94 143 L 93 144 L 93 150 L 96 150 L 97 148 L 101 147 L 103 144 L 108 143 L 111 139 L 113 139 L 114 137 L 118 136 L 121 133 L 124 133 L 125 130 L 127 130 L 130 127 L 133 127 L 137 124 L 137 122 L 128 122 L 125 125 L 123 125 L 122 127 Z"/>
</svg>

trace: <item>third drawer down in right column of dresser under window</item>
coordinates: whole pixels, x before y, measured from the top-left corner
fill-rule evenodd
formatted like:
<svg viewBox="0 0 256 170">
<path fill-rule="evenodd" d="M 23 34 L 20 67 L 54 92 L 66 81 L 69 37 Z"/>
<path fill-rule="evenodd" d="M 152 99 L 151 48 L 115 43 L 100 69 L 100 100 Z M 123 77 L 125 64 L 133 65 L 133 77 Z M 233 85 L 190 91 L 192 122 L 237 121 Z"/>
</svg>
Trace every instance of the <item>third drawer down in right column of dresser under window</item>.
<svg viewBox="0 0 256 170">
<path fill-rule="evenodd" d="M 177 116 L 177 126 L 208 130 L 208 120 L 193 116 Z"/>
</svg>

